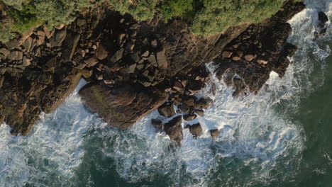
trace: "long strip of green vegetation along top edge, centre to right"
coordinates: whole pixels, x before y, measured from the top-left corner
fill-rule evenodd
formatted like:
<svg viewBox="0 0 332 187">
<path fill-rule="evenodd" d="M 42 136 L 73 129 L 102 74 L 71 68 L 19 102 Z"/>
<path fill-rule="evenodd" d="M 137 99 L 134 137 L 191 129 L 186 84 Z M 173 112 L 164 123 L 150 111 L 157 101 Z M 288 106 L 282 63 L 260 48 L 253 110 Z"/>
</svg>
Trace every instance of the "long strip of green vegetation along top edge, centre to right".
<svg viewBox="0 0 332 187">
<path fill-rule="evenodd" d="M 196 35 L 222 33 L 229 26 L 257 23 L 270 18 L 287 0 L 109 0 L 121 13 L 139 21 L 154 15 L 168 20 L 181 17 L 192 21 Z M 301 1 L 301 0 L 296 0 Z"/>
</svg>

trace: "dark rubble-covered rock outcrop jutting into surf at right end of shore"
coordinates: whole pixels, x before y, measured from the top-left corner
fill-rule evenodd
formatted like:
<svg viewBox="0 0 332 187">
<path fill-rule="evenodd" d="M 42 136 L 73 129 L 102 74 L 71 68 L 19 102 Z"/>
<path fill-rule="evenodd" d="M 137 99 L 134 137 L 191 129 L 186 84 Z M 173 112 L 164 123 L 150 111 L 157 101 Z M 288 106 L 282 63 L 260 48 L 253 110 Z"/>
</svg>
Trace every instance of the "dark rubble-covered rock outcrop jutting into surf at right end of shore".
<svg viewBox="0 0 332 187">
<path fill-rule="evenodd" d="M 255 93 L 262 88 L 270 72 L 282 77 L 297 47 L 287 43 L 292 28 L 286 21 L 304 8 L 301 2 L 284 4 L 281 11 L 262 23 L 252 24 L 232 40 L 215 62 L 217 77 L 233 86 L 233 96 Z"/>
</svg>

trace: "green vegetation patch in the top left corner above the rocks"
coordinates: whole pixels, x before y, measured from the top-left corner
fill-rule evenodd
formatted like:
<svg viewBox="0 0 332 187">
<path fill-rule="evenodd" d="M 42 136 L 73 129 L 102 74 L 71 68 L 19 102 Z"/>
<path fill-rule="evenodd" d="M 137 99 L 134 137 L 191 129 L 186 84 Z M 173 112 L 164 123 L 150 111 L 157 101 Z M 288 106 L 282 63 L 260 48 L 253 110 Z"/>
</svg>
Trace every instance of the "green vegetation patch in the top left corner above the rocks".
<svg viewBox="0 0 332 187">
<path fill-rule="evenodd" d="M 43 25 L 70 23 L 76 13 L 90 6 L 89 0 L 0 0 L 0 40 Z"/>
</svg>

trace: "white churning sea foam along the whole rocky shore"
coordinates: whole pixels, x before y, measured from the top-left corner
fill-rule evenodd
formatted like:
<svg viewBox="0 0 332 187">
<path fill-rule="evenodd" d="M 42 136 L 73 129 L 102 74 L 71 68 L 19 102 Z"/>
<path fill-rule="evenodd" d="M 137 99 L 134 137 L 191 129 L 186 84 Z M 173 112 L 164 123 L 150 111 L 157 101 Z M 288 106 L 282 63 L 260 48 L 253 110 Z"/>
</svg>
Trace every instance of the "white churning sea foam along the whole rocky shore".
<svg viewBox="0 0 332 187">
<path fill-rule="evenodd" d="M 299 51 L 284 78 L 272 72 L 257 96 L 233 98 L 231 89 L 212 77 L 201 95 L 209 95 L 209 89 L 216 86 L 216 95 L 210 94 L 215 104 L 204 118 L 195 120 L 204 130 L 198 140 L 184 130 L 182 147 L 170 147 L 165 133 L 156 132 L 150 125 L 152 118 L 160 118 L 157 111 L 128 130 L 106 128 L 84 109 L 77 96 L 77 90 L 85 84 L 82 81 L 55 112 L 41 116 L 28 136 L 13 137 L 7 125 L 0 127 L 0 186 L 75 186 L 71 179 L 74 169 L 82 164 L 82 144 L 89 136 L 101 139 L 103 157 L 113 159 L 118 175 L 128 182 L 161 175 L 170 177 L 172 186 L 209 186 L 214 171 L 225 169 L 229 174 L 217 180 L 223 181 L 223 186 L 236 186 L 232 183 L 236 170 L 249 167 L 252 179 L 247 181 L 248 186 L 256 181 L 268 183 L 279 159 L 301 160 L 297 156 L 304 149 L 305 137 L 301 126 L 287 119 L 287 113 L 294 112 L 304 93 L 322 84 L 323 75 L 313 79 L 311 74 L 323 74 L 324 60 L 331 53 L 326 43 L 331 40 L 331 29 L 319 41 L 314 40 L 313 33 L 318 11 L 331 17 L 332 1 L 308 0 L 306 4 L 308 8 L 289 21 L 294 30 L 289 42 Z M 207 68 L 214 69 L 212 64 Z M 96 131 L 89 134 L 88 127 Z M 216 128 L 220 135 L 212 140 L 209 130 Z M 240 164 L 234 166 L 232 163 L 238 160 Z M 230 167 L 235 167 L 233 172 Z M 190 179 L 184 182 L 187 176 Z M 89 181 L 86 186 L 93 183 Z"/>
</svg>

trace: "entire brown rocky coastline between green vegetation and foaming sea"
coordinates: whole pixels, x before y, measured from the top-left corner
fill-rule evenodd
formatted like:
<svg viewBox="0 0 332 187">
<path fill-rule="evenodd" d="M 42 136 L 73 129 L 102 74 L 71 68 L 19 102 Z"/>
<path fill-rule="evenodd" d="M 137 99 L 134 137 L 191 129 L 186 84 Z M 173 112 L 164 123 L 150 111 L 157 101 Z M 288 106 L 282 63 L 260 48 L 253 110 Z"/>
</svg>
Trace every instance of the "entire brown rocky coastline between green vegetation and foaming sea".
<svg viewBox="0 0 332 187">
<path fill-rule="evenodd" d="M 233 96 L 257 94 L 270 72 L 282 77 L 291 63 L 297 47 L 287 42 L 287 21 L 304 8 L 287 1 L 272 18 L 209 37 L 192 35 L 179 18 L 138 22 L 100 6 L 69 25 L 40 26 L 0 45 L 0 124 L 10 125 L 13 135 L 27 135 L 40 113 L 54 111 L 83 78 L 84 105 L 106 123 L 126 129 L 158 110 L 169 120 L 151 124 L 181 145 L 184 129 L 194 137 L 202 132 L 199 123 L 183 129 L 182 120 L 213 106 L 211 98 L 195 96 L 214 73 L 205 63 L 216 64 L 218 79 Z M 317 37 L 324 21 L 321 16 Z"/>
</svg>

